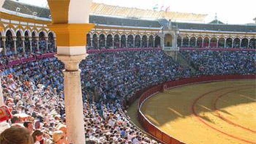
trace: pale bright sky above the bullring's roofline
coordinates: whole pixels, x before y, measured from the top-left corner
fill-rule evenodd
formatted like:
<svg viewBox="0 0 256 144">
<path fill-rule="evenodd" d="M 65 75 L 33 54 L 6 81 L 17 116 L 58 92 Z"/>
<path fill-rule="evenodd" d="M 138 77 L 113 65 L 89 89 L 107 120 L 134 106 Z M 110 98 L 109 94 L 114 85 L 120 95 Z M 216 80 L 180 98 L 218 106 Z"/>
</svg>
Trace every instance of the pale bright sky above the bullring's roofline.
<svg viewBox="0 0 256 144">
<path fill-rule="evenodd" d="M 47 6 L 47 0 L 19 0 L 32 5 Z M 122 7 L 153 9 L 158 5 L 170 7 L 173 12 L 208 14 L 205 22 L 214 19 L 215 14 L 220 21 L 228 24 L 253 23 L 256 17 L 256 0 L 93 0 L 93 2 Z"/>
</svg>

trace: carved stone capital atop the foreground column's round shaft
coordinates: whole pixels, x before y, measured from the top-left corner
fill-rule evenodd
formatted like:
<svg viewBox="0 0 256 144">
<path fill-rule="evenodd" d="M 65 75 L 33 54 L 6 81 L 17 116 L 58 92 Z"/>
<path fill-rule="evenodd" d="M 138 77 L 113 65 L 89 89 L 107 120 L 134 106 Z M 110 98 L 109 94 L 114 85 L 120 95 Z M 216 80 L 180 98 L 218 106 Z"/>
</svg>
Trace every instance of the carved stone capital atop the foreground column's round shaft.
<svg viewBox="0 0 256 144">
<path fill-rule="evenodd" d="M 60 61 L 62 61 L 65 64 L 65 69 L 67 71 L 78 71 L 79 69 L 79 63 L 82 59 L 85 59 L 85 57 L 88 54 L 81 54 L 81 55 L 55 55 Z"/>
</svg>

